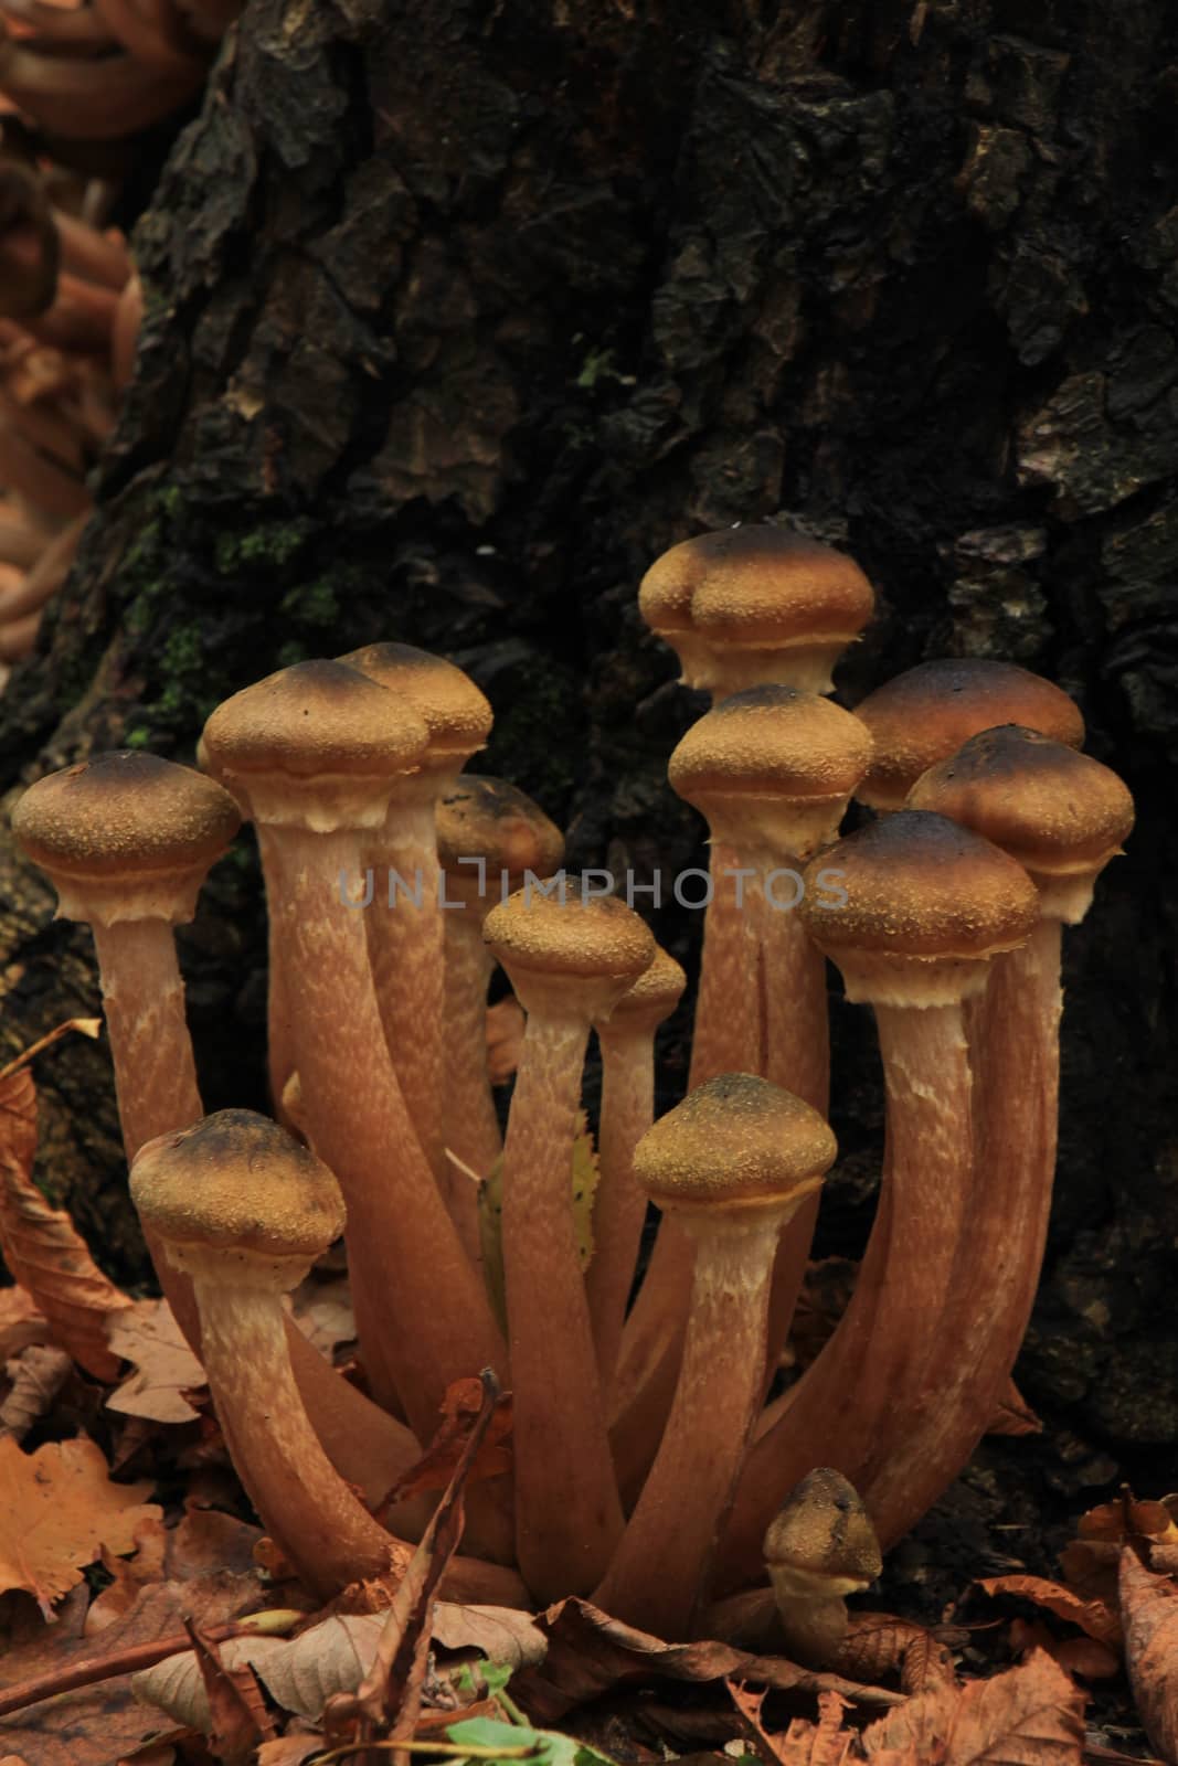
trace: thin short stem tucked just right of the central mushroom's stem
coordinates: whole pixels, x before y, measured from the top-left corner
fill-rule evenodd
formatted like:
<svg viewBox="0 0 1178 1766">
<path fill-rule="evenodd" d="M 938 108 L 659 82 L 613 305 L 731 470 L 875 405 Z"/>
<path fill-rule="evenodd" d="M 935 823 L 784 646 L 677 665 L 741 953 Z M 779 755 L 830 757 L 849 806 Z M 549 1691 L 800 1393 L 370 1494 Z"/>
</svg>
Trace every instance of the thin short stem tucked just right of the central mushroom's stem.
<svg viewBox="0 0 1178 1766">
<path fill-rule="evenodd" d="M 618 1033 L 606 1023 L 597 1040 L 602 1056 L 599 1178 L 585 1291 L 602 1393 L 609 1402 L 646 1219 L 646 1196 L 634 1181 L 634 1148 L 655 1114 L 655 1038 L 652 1030 Z"/>
</svg>

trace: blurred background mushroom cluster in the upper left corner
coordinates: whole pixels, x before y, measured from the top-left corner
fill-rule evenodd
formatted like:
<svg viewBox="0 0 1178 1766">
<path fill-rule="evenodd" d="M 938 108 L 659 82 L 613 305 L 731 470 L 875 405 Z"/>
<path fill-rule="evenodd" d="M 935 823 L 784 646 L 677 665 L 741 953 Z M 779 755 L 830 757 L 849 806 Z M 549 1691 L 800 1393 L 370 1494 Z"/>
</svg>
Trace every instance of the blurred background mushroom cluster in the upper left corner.
<svg viewBox="0 0 1178 1766">
<path fill-rule="evenodd" d="M 0 0 L 0 683 L 90 514 L 143 297 L 109 224 L 136 134 L 187 104 L 242 0 Z"/>
</svg>

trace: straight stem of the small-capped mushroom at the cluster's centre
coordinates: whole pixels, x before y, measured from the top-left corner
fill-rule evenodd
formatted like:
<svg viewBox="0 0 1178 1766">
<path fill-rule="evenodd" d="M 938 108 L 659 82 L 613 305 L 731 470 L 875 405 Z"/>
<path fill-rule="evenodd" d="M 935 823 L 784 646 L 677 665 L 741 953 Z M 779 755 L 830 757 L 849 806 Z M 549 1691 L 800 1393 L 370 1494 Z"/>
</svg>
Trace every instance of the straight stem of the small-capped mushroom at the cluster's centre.
<svg viewBox="0 0 1178 1766">
<path fill-rule="evenodd" d="M 516 1551 L 540 1600 L 586 1593 L 622 1536 L 569 1196 L 588 1021 L 528 1017 L 503 1146 Z"/>
</svg>

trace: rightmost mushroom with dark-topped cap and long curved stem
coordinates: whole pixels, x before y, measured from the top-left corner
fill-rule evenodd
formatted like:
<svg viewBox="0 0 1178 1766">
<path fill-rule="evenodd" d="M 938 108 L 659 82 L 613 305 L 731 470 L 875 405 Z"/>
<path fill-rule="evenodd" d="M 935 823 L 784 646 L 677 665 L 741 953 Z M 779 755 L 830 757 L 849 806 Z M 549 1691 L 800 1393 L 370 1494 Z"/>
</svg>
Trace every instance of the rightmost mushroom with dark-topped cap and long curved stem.
<svg viewBox="0 0 1178 1766">
<path fill-rule="evenodd" d="M 1060 1093 L 1060 929 L 1129 835 L 1134 805 L 1107 766 L 1007 724 L 929 768 L 910 804 L 973 828 L 1038 888 L 1026 945 L 994 959 L 970 1005 L 978 1185 L 938 1351 L 936 1390 L 865 1498 L 899 1538 L 968 1460 L 998 1406 L 1035 1300 L 1047 1238 Z"/>
</svg>

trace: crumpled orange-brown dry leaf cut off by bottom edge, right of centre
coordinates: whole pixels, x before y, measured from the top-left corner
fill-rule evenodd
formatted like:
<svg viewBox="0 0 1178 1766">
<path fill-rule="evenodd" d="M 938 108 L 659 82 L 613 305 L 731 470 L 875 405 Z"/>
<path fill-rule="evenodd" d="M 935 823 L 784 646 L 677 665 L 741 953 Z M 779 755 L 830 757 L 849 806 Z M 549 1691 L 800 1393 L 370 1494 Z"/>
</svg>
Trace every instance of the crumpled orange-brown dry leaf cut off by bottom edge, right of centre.
<svg viewBox="0 0 1178 1766">
<path fill-rule="evenodd" d="M 936 1687 L 864 1731 L 876 1766 L 1081 1766 L 1084 1694 L 1035 1651 L 964 1690 Z"/>
</svg>

